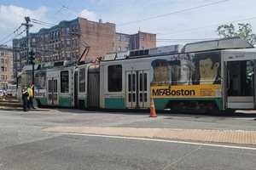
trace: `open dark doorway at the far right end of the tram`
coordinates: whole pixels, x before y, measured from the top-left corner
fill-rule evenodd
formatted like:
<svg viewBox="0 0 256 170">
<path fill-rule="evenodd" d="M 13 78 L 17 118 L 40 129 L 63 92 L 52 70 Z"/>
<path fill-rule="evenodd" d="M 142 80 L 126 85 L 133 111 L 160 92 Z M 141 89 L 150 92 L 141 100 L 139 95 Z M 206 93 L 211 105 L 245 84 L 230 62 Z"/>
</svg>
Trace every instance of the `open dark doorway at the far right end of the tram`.
<svg viewBox="0 0 256 170">
<path fill-rule="evenodd" d="M 227 108 L 253 109 L 255 108 L 255 61 L 231 60 L 225 63 L 226 67 L 226 95 Z"/>
</svg>

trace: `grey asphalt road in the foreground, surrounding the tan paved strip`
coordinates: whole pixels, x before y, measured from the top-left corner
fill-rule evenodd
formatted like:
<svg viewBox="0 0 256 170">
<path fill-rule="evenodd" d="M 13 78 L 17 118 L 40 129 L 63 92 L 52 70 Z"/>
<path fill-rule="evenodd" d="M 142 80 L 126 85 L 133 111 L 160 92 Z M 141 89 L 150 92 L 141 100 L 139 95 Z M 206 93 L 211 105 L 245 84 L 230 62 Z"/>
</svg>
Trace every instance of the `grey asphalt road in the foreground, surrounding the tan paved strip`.
<svg viewBox="0 0 256 170">
<path fill-rule="evenodd" d="M 255 169 L 256 150 L 47 133 L 45 127 L 196 127 L 255 130 L 252 117 L 95 111 L 0 111 L 0 169 Z M 252 147 L 252 146 L 250 146 Z"/>
</svg>

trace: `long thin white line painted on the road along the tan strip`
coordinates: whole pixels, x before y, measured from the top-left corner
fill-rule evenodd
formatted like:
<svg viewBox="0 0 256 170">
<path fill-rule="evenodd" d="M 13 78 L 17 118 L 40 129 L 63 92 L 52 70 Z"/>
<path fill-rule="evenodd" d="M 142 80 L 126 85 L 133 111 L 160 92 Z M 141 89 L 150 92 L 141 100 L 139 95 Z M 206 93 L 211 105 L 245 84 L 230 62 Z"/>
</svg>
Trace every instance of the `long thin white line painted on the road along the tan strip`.
<svg viewBox="0 0 256 170">
<path fill-rule="evenodd" d="M 193 145 L 212 146 L 212 147 L 220 147 L 220 148 L 239 149 L 239 150 L 256 150 L 256 148 L 246 147 L 246 146 L 236 146 L 236 145 L 227 145 L 227 144 L 206 144 L 206 143 L 198 143 L 198 142 L 178 141 L 178 140 L 172 140 L 172 139 L 170 140 L 148 139 L 148 138 L 137 138 L 137 137 L 125 137 L 125 136 L 111 136 L 111 135 L 102 135 L 102 134 L 86 134 L 86 133 L 61 133 L 61 134 L 89 136 L 89 137 L 102 137 L 102 138 L 111 138 L 111 139 L 135 139 L 135 140 L 154 141 L 154 142 L 166 142 L 166 143 L 173 143 L 173 144 L 193 144 Z"/>
</svg>

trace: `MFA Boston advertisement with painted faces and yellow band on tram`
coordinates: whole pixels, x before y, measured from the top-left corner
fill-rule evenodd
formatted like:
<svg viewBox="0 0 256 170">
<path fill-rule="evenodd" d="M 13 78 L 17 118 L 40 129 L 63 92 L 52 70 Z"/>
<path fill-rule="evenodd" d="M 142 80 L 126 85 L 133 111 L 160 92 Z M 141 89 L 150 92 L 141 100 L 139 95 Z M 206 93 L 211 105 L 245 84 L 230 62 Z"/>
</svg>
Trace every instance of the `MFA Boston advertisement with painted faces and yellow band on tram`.
<svg viewBox="0 0 256 170">
<path fill-rule="evenodd" d="M 219 52 L 177 54 L 151 61 L 152 98 L 221 96 Z"/>
</svg>

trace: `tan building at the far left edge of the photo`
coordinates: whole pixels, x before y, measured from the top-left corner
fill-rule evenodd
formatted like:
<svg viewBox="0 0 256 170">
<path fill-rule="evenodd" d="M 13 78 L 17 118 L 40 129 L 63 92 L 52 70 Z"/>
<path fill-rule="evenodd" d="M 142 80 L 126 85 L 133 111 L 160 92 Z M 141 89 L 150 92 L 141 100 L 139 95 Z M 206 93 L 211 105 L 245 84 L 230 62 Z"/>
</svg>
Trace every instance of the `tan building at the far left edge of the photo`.
<svg viewBox="0 0 256 170">
<path fill-rule="evenodd" d="M 0 89 L 6 89 L 13 82 L 13 50 L 0 46 Z"/>
</svg>

